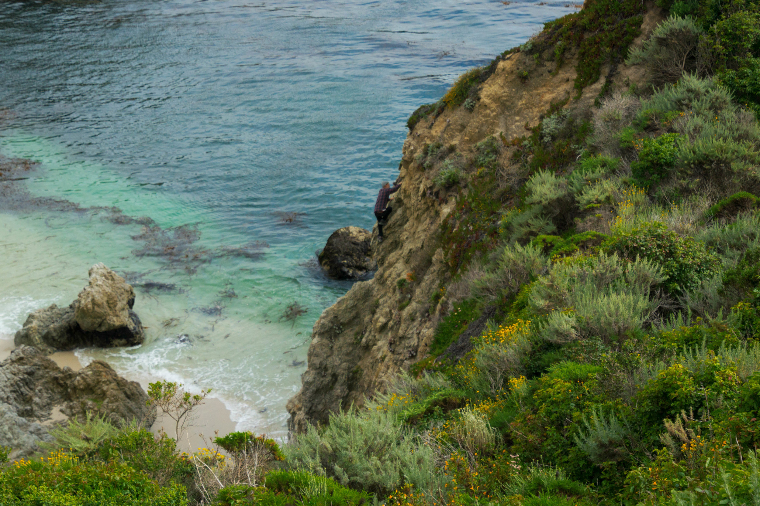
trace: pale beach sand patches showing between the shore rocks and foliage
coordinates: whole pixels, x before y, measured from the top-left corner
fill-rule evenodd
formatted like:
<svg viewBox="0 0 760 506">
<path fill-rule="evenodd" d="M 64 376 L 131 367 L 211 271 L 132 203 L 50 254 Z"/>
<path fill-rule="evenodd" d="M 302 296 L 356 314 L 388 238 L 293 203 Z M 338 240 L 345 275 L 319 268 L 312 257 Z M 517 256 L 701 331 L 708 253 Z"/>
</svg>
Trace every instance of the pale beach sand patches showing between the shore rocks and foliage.
<svg viewBox="0 0 760 506">
<path fill-rule="evenodd" d="M 0 334 L 0 361 L 8 358 L 14 347 L 12 335 Z M 49 355 L 49 357 L 59 367 L 71 367 L 74 371 L 82 368 L 82 364 L 73 351 L 59 351 Z M 158 378 L 147 376 L 139 378 L 125 376 L 125 378 L 139 382 L 146 391 L 149 383 L 158 380 Z M 205 399 L 204 404 L 196 408 L 194 416 L 194 420 L 188 423 L 188 429 L 182 436 L 182 439 L 177 442 L 177 448 L 182 451 L 198 451 L 198 448 L 207 448 L 215 435 L 221 436 L 235 431 L 236 422 L 233 422 L 230 418 L 230 410 L 217 398 Z M 57 418 L 54 416 L 53 418 L 53 420 L 59 419 L 61 419 L 60 416 Z M 155 434 L 158 434 L 162 430 L 169 437 L 175 437 L 175 422 L 169 416 L 159 416 L 151 428 L 151 431 Z M 204 442 L 204 438 L 206 442 Z"/>
</svg>

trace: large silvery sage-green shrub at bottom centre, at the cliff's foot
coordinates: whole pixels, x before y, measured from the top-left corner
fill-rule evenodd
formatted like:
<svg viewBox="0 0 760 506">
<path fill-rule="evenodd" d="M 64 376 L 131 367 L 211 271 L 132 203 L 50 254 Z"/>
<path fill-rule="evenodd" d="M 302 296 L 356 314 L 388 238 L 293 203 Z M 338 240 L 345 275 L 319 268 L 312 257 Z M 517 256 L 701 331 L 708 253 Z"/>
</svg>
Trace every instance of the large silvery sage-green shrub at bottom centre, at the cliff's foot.
<svg viewBox="0 0 760 506">
<path fill-rule="evenodd" d="M 323 470 L 343 486 L 386 494 L 404 483 L 435 481 L 433 451 L 384 410 L 331 413 L 328 426 L 309 426 L 283 447 L 293 466 Z"/>
</svg>

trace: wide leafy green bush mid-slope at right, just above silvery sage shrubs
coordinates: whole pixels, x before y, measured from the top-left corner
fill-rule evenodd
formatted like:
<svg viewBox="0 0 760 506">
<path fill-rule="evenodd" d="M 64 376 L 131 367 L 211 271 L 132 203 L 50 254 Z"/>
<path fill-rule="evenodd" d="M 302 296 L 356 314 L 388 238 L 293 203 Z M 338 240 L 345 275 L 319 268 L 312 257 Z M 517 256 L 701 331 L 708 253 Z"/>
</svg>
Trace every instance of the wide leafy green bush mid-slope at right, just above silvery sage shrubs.
<svg viewBox="0 0 760 506">
<path fill-rule="evenodd" d="M 658 222 L 644 224 L 630 232 L 620 232 L 606 240 L 603 250 L 629 259 L 655 262 L 667 276 L 663 288 L 670 294 L 685 294 L 698 288 L 720 268 L 720 259 L 691 237 L 679 237 Z"/>
</svg>

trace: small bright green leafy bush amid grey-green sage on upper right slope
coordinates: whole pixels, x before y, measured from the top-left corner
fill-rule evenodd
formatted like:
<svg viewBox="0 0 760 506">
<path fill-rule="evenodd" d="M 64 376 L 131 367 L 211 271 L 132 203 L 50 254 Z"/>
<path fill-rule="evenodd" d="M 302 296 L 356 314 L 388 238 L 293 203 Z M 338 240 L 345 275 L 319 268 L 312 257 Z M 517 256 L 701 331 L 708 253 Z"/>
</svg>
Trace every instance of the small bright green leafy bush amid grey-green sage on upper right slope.
<svg viewBox="0 0 760 506">
<path fill-rule="evenodd" d="M 678 158 L 679 140 L 680 134 L 663 134 L 634 143 L 638 161 L 631 162 L 631 173 L 636 186 L 653 189 L 670 175 Z"/>
</svg>

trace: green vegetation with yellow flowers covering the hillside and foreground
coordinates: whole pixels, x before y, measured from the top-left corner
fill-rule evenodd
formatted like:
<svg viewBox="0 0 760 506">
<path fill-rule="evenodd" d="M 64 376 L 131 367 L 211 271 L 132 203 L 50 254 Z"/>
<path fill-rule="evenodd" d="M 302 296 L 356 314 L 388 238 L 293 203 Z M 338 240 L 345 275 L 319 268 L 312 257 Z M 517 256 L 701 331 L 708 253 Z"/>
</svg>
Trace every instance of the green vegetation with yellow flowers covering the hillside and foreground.
<svg viewBox="0 0 760 506">
<path fill-rule="evenodd" d="M 195 454 L 71 423 L 49 457 L 0 471 L 3 504 L 760 504 L 760 11 L 659 3 L 673 16 L 629 55 L 650 86 L 418 155 L 457 194 L 441 230 L 453 281 L 430 300 L 430 356 L 385 392 L 287 444 L 235 432 Z M 518 50 L 577 50 L 581 90 L 626 57 L 642 13 L 587 2 Z M 410 128 L 477 102 L 494 66 Z M 401 309 L 415 282 L 397 280 Z M 476 320 L 464 357 L 435 360 Z M 166 386 L 158 405 L 193 401 Z"/>
</svg>

